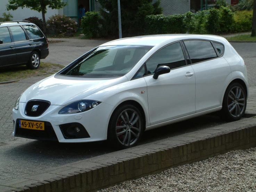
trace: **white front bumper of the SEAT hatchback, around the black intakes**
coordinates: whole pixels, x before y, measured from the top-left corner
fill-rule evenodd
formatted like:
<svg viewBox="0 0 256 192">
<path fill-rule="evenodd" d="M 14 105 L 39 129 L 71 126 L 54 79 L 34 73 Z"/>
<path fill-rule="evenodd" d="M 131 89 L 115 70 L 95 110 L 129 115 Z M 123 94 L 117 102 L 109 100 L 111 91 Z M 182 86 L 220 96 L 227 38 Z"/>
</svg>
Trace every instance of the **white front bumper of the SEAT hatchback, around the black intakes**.
<svg viewBox="0 0 256 192">
<path fill-rule="evenodd" d="M 63 105 L 50 105 L 49 108 L 39 117 L 30 117 L 25 115 L 25 106 L 26 103 L 19 103 L 19 109 L 13 109 L 13 120 L 14 120 L 14 131 L 13 136 L 15 137 L 24 137 L 19 134 L 17 120 L 30 120 L 30 121 L 43 121 L 49 122 L 52 126 L 57 140 L 59 142 L 92 142 L 92 141 L 102 141 L 107 139 L 107 129 L 108 122 L 112 112 L 114 111 L 114 106 L 108 105 L 106 103 L 101 103 L 95 108 L 92 108 L 89 111 L 76 114 L 58 114 L 59 110 L 63 108 Z M 61 132 L 60 126 L 67 123 L 80 123 L 84 126 L 88 132 L 90 138 L 82 139 L 65 139 L 65 134 Z M 38 134 L 41 130 L 38 131 Z M 41 133 L 41 132 L 40 132 Z M 43 133 L 43 132 L 42 132 Z M 40 139 L 40 137 L 26 137 L 31 139 Z M 54 139 L 52 139 L 54 140 Z"/>
</svg>

